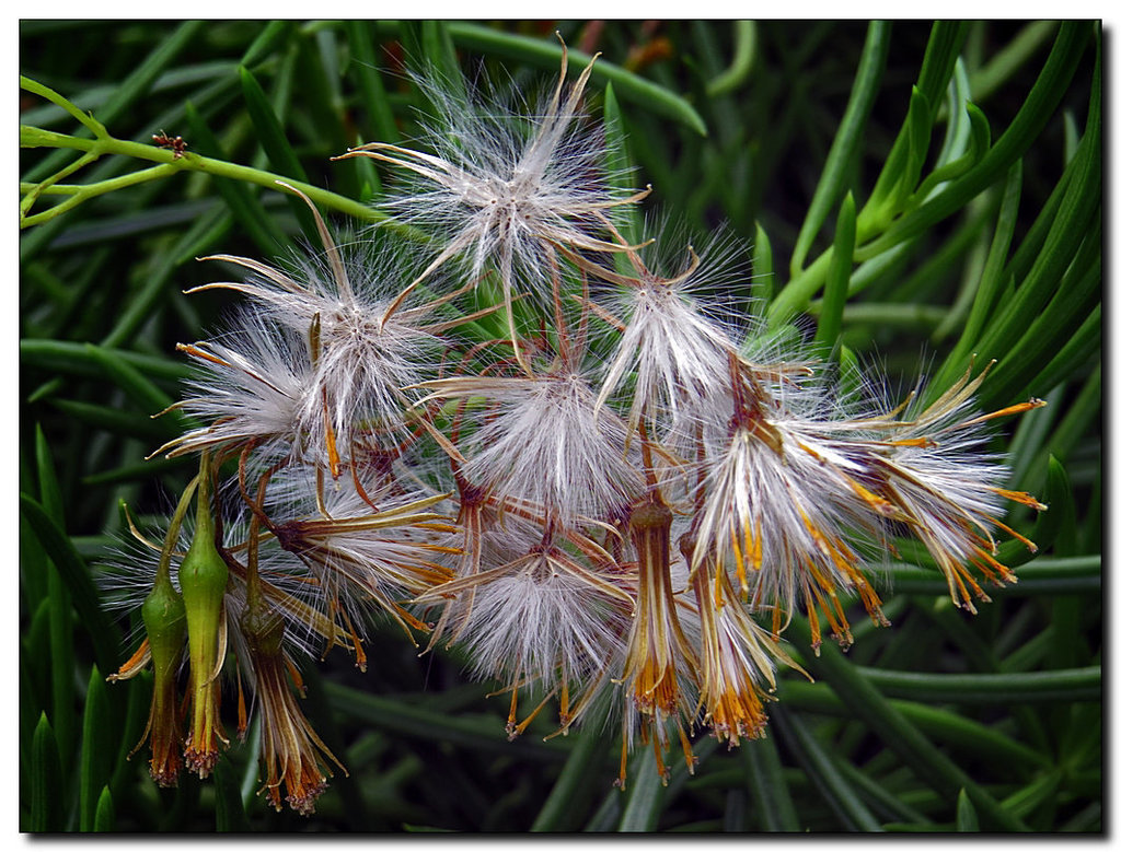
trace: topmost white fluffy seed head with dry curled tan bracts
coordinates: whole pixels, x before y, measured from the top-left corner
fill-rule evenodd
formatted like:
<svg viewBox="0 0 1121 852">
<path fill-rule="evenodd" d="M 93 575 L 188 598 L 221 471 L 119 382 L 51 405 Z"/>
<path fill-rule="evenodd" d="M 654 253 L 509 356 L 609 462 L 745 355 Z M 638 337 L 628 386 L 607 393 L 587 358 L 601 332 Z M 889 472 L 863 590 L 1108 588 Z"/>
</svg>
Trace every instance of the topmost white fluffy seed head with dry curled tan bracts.
<svg viewBox="0 0 1121 852">
<path fill-rule="evenodd" d="M 509 289 L 547 296 L 550 243 L 601 247 L 601 212 L 628 193 L 604 180 L 602 128 L 580 112 L 586 84 L 563 79 L 536 111 L 478 88 L 460 94 L 438 75 L 416 77 L 435 115 L 421 122 L 419 149 L 367 146 L 398 167 L 406 182 L 387 206 L 445 246 L 434 265 L 464 258 L 478 279 L 499 269 Z"/>
</svg>

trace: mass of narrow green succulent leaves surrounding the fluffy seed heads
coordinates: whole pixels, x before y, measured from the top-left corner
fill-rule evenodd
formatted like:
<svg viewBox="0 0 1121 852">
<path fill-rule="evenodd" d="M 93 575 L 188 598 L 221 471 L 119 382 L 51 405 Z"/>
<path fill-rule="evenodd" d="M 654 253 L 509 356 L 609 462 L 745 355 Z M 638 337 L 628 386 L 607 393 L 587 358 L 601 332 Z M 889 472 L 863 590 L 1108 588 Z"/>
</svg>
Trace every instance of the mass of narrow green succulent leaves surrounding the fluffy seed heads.
<svg viewBox="0 0 1121 852">
<path fill-rule="evenodd" d="M 770 736 L 706 739 L 668 786 L 649 753 L 628 789 L 614 724 L 519 740 L 462 659 L 378 628 L 370 671 L 304 672 L 306 710 L 349 774 L 308 820 L 254 795 L 256 753 L 160 790 L 143 677 L 106 683 L 136 616 L 106 612 L 99 564 L 119 506 L 166 513 L 189 462 L 145 456 L 179 393 L 174 344 L 222 294 L 194 258 L 312 238 L 282 178 L 351 223 L 383 175 L 332 156 L 411 129 L 401 73 L 503 68 L 519 85 L 603 52 L 592 99 L 619 134 L 613 179 L 655 186 L 693 228 L 752 244 L 745 290 L 775 335 L 876 359 L 926 392 L 998 359 L 1010 487 L 1050 505 L 1010 523 L 1019 582 L 955 610 L 928 558 L 879 581 L 895 622 L 852 610 L 854 647 L 784 673 Z M 676 21 L 21 25 L 20 815 L 27 831 L 1065 831 L 1102 827 L 1101 32 L 1081 24 Z M 106 49 L 111 45 L 112 49 Z M 182 135 L 186 156 L 152 143 Z M 620 177 L 622 169 L 638 172 Z M 424 238 L 402 233 L 402 238 Z M 250 742 L 254 731 L 251 731 Z"/>
</svg>

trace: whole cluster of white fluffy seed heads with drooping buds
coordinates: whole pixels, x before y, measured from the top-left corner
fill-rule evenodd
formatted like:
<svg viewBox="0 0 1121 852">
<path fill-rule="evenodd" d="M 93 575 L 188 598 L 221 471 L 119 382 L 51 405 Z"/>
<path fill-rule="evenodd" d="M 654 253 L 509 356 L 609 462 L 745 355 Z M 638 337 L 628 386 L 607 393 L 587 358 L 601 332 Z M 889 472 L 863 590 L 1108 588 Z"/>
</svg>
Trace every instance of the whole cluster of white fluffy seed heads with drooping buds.
<svg viewBox="0 0 1121 852">
<path fill-rule="evenodd" d="M 299 666 L 340 648 L 364 670 L 379 614 L 497 681 L 510 737 L 550 706 L 562 733 L 610 709 L 622 785 L 636 741 L 665 776 L 675 741 L 692 768 L 698 729 L 763 736 L 779 667 L 800 671 L 790 620 L 845 647 L 855 597 L 886 626 L 868 567 L 899 536 L 963 608 L 1015 581 L 997 536 L 1026 540 L 1003 507 L 1044 507 L 1002 487 L 985 428 L 1041 403 L 980 414 L 971 368 L 892 408 L 762 344 L 726 309 L 747 284 L 734 242 L 674 250 L 620 224 L 649 190 L 611 188 L 591 72 L 569 84 L 565 53 L 528 114 L 420 81 L 427 135 L 342 155 L 397 178 L 385 208 L 427 253 L 393 227 L 339 241 L 305 197 L 317 253 L 210 259 L 241 274 L 201 289 L 242 306 L 179 346 L 197 373 L 175 408 L 197 425 L 157 452 L 200 472 L 133 568 L 146 638 L 117 675 L 155 670 L 160 784 L 213 768 L 232 687 L 241 736 L 256 695 L 262 792 L 311 813 L 341 766 Z"/>
</svg>

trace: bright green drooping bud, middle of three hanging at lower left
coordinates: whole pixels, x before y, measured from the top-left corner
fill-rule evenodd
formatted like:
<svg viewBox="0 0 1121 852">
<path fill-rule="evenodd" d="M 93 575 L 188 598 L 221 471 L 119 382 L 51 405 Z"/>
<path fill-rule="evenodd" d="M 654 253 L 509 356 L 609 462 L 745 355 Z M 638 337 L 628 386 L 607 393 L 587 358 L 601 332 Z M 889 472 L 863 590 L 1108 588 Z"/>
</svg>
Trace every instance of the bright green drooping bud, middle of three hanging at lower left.
<svg viewBox="0 0 1121 852">
<path fill-rule="evenodd" d="M 195 535 L 179 565 L 179 589 L 183 590 L 191 652 L 192 721 L 185 756 L 187 767 L 200 778 L 205 778 L 214 768 L 219 741 L 225 742 L 219 721 L 217 675 L 224 662 L 219 654 L 225 633 L 223 599 L 230 570 L 214 544 L 209 468 L 204 453 L 198 475 Z"/>
</svg>

